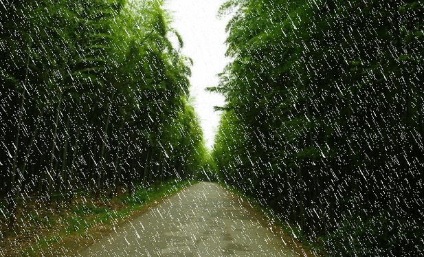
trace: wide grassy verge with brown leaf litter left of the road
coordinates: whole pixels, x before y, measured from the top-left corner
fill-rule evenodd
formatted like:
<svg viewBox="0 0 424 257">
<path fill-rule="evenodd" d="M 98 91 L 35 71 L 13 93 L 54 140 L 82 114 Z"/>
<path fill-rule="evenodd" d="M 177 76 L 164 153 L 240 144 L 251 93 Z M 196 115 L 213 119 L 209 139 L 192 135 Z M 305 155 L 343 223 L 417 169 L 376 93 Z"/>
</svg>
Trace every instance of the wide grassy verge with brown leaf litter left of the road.
<svg viewBox="0 0 424 257">
<path fill-rule="evenodd" d="M 0 218 L 0 256 L 72 256 L 193 183 L 170 180 L 147 188 L 139 185 L 132 195 L 122 188 L 112 199 L 81 194 L 71 204 L 21 202 L 13 230 L 8 229 L 6 215 Z M 4 206 L 0 208 L 4 212 Z"/>
</svg>

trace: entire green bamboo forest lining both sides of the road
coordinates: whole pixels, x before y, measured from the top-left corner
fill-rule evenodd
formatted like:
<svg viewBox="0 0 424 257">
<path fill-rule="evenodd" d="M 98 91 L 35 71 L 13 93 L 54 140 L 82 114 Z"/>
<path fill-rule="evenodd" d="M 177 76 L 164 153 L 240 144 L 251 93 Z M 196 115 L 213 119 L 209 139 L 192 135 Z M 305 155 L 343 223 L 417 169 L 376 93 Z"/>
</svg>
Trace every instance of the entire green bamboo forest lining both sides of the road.
<svg viewBox="0 0 424 257">
<path fill-rule="evenodd" d="M 30 197 L 216 173 L 326 256 L 423 254 L 422 1 L 223 3 L 232 61 L 209 88 L 226 99 L 212 159 L 162 0 L 0 3 L 10 224 Z"/>
</svg>

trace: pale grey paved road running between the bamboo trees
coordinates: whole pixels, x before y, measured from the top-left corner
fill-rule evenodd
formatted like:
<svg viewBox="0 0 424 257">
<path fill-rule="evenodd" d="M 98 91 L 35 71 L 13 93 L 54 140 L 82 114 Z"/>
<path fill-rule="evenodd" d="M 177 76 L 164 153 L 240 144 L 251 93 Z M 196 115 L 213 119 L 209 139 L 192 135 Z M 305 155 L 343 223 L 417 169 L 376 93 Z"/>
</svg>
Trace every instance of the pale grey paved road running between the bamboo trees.
<svg viewBox="0 0 424 257">
<path fill-rule="evenodd" d="M 166 199 L 77 256 L 298 256 L 216 183 Z"/>
</svg>

